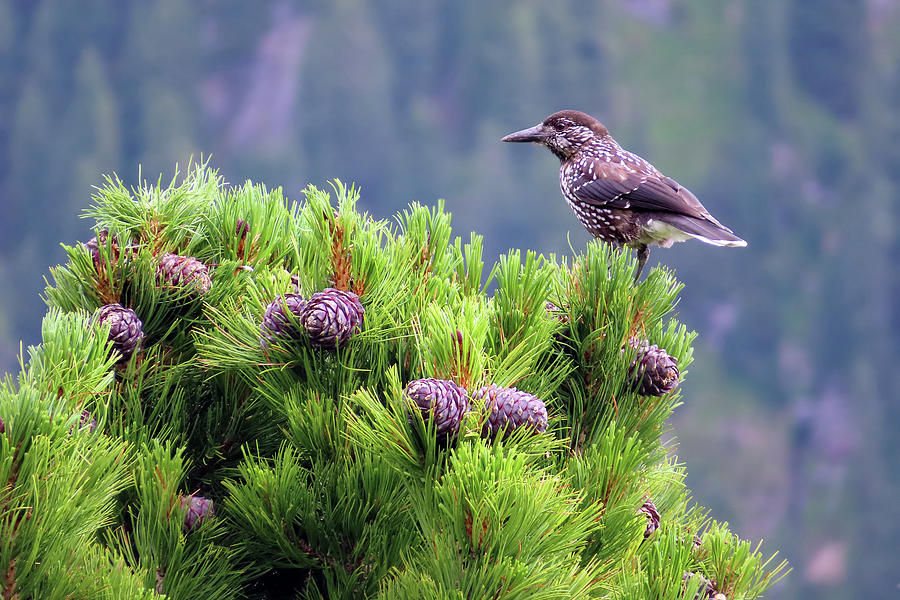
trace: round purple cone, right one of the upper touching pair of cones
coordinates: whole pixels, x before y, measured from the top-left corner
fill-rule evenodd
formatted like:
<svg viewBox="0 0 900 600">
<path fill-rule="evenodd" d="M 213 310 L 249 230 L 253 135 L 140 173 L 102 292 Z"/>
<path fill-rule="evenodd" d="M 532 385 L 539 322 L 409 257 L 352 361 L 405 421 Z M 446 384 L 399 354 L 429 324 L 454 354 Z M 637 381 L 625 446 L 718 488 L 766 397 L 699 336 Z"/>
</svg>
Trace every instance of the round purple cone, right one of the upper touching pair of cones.
<svg viewBox="0 0 900 600">
<path fill-rule="evenodd" d="M 310 296 L 300 322 L 313 346 L 333 350 L 359 331 L 365 312 L 353 292 L 326 288 Z"/>
</svg>

